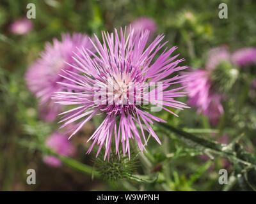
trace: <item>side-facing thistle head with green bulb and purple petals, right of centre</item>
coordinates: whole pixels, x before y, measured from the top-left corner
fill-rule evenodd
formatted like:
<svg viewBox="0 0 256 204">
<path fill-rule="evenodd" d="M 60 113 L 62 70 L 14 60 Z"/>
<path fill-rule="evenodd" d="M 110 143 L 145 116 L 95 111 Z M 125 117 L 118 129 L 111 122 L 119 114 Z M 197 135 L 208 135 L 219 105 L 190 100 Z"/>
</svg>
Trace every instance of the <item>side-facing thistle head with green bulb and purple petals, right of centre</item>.
<svg viewBox="0 0 256 204">
<path fill-rule="evenodd" d="M 196 107 L 198 113 L 207 116 L 213 126 L 216 125 L 224 112 L 222 94 L 232 87 L 237 78 L 227 47 L 211 49 L 205 69 L 193 70 L 186 75 L 183 84 L 189 92 L 188 103 Z"/>
</svg>

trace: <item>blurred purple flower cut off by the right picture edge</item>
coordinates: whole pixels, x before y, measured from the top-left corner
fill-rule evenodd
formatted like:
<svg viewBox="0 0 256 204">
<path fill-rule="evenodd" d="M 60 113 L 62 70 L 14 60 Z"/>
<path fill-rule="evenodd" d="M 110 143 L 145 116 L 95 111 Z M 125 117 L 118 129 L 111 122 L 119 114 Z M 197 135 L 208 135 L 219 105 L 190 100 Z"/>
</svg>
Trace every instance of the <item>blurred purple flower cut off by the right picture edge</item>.
<svg viewBox="0 0 256 204">
<path fill-rule="evenodd" d="M 256 62 L 256 48 L 241 48 L 232 54 L 232 61 L 238 66 Z"/>
</svg>

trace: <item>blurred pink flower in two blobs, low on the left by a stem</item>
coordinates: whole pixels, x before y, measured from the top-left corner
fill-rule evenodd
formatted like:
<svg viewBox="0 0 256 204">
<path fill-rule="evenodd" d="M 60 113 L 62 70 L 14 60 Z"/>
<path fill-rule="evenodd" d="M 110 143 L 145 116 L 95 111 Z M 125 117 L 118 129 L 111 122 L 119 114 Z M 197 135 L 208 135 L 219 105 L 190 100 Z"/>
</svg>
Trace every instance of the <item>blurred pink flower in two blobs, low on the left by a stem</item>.
<svg viewBox="0 0 256 204">
<path fill-rule="evenodd" d="M 72 143 L 68 141 L 66 135 L 62 135 L 61 133 L 53 133 L 49 138 L 47 138 L 45 145 L 61 156 L 74 156 L 74 154 L 76 154 L 76 150 Z M 50 166 L 61 166 L 60 159 L 54 156 L 45 156 L 44 162 Z"/>
</svg>

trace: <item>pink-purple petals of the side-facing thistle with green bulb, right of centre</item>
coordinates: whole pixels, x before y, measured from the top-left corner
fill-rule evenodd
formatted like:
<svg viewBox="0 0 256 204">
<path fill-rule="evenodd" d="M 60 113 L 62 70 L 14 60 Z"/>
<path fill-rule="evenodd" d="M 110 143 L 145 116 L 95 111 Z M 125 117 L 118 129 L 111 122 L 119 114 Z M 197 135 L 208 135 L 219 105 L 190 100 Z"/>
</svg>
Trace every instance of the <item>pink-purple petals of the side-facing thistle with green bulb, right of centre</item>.
<svg viewBox="0 0 256 204">
<path fill-rule="evenodd" d="M 213 71 L 222 63 L 230 62 L 230 54 L 227 47 L 213 48 L 209 51 L 209 57 L 205 69 L 193 70 L 186 73 L 186 91 L 188 91 L 189 105 L 197 108 L 198 113 L 203 113 L 209 118 L 212 126 L 215 126 L 224 113 L 221 99 L 223 97 L 214 90 L 211 76 Z"/>
</svg>

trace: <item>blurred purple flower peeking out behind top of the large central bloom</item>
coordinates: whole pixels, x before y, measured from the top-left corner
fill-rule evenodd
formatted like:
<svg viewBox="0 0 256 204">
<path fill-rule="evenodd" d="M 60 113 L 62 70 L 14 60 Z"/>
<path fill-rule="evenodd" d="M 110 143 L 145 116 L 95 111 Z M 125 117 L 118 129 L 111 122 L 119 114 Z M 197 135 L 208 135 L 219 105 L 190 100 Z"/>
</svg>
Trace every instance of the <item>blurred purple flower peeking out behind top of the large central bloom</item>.
<svg viewBox="0 0 256 204">
<path fill-rule="evenodd" d="M 150 36 L 156 31 L 156 23 L 152 18 L 140 17 L 131 22 L 131 27 L 134 29 L 134 33 L 140 33 L 141 31 L 150 31 Z"/>
</svg>

